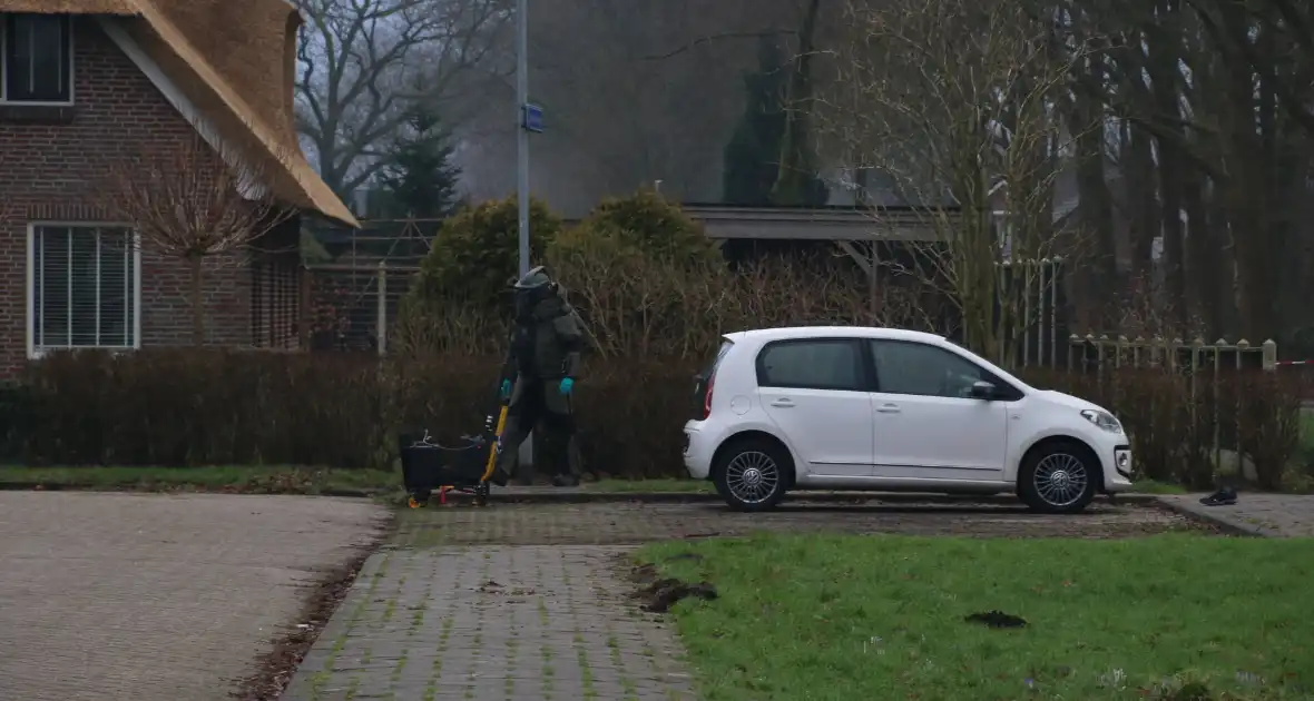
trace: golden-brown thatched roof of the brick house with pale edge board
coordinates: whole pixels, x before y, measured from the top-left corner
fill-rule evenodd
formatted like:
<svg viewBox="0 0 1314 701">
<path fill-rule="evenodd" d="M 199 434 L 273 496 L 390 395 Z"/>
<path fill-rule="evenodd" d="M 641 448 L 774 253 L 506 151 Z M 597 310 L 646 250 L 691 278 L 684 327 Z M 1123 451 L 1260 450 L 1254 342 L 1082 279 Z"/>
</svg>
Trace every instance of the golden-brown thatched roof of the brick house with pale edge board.
<svg viewBox="0 0 1314 701">
<path fill-rule="evenodd" d="M 120 14 L 131 35 L 226 142 L 267 160 L 275 194 L 359 226 L 314 172 L 293 122 L 297 29 L 284 0 L 0 0 L 0 12 Z"/>
</svg>

